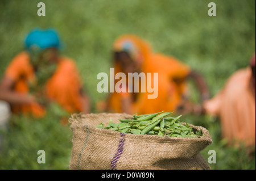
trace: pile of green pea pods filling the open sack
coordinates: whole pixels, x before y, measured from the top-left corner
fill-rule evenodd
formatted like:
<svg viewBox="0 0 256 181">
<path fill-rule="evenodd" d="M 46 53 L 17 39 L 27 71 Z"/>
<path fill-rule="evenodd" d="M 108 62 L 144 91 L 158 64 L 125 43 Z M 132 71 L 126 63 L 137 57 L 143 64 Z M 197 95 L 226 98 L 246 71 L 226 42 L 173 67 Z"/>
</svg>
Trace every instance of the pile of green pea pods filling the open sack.
<svg viewBox="0 0 256 181">
<path fill-rule="evenodd" d="M 170 137 L 201 137 L 201 131 L 193 132 L 187 123 L 179 121 L 180 116 L 171 117 L 172 112 L 157 112 L 146 115 L 133 115 L 133 119 L 119 119 L 120 123 L 109 124 L 104 127 L 101 123 L 97 128 L 110 129 L 121 133 L 150 134 Z M 167 117 L 168 116 L 168 117 Z"/>
</svg>

